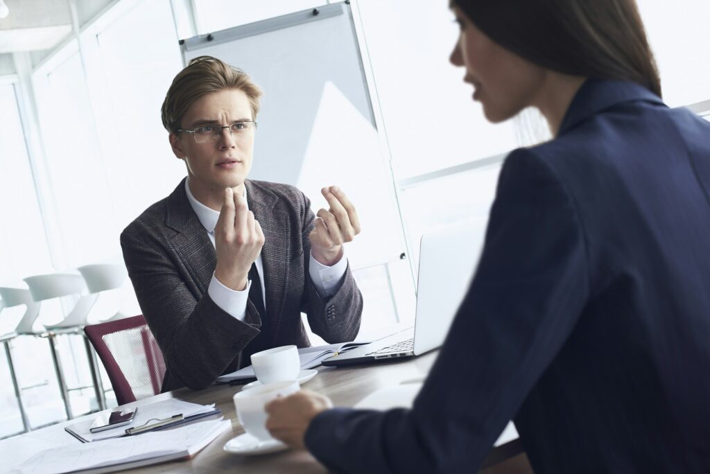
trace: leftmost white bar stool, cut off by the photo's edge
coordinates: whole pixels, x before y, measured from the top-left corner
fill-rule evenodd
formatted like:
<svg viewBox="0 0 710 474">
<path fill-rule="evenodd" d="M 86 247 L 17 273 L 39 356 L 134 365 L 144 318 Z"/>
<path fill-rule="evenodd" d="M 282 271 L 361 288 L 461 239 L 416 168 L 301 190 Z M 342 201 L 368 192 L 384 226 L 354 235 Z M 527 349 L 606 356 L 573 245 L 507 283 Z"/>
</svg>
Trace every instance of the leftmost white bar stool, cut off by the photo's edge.
<svg viewBox="0 0 710 474">
<path fill-rule="evenodd" d="M 17 375 L 15 372 L 15 364 L 12 358 L 12 351 L 10 348 L 11 341 L 17 336 L 25 335 L 37 335 L 38 332 L 33 330 L 33 325 L 37 320 L 39 315 L 40 305 L 35 303 L 29 290 L 23 288 L 8 288 L 0 287 L 0 297 L 1 309 L 16 307 L 24 305 L 26 307 L 25 313 L 18 322 L 14 331 L 3 334 L 0 336 L 0 340 L 5 346 L 5 355 L 7 358 L 7 363 L 10 369 L 10 377 L 13 384 L 13 389 L 15 390 L 15 397 L 17 399 L 17 404 L 20 409 L 20 417 L 22 418 L 23 431 L 28 431 L 30 429 L 30 423 L 27 417 L 27 411 L 25 409 L 25 404 L 22 400 L 22 392 L 20 384 L 17 380 Z"/>
</svg>

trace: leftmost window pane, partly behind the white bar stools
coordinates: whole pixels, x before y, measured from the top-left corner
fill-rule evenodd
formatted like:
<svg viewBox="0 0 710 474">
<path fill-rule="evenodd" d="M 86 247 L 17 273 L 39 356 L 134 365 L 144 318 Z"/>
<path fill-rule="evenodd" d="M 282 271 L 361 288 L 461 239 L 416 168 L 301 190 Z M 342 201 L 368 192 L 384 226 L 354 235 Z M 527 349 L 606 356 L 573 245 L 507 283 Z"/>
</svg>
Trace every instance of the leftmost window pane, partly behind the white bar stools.
<svg viewBox="0 0 710 474">
<path fill-rule="evenodd" d="M 0 78 L 0 80 L 3 80 Z M 47 272 L 52 268 L 45 237 L 42 214 L 35 194 L 32 168 L 28 159 L 20 111 L 16 99 L 16 86 L 0 82 L 0 200 L 3 225 L 0 226 L 0 285 L 22 288 L 23 277 Z M 15 329 L 25 307 L 11 307 L 2 311 L 0 333 Z M 53 380 L 52 361 L 45 340 L 21 336 L 10 342 L 16 360 L 18 382 L 31 426 L 40 426 L 62 419 L 63 409 L 58 400 L 58 387 Z M 4 351 L 3 351 L 4 352 Z M 4 355 L 2 356 L 4 357 Z M 32 364 L 19 367 L 23 360 Z M 6 368 L 6 365 L 4 365 Z M 16 398 L 9 370 L 0 371 L 0 437 L 22 431 Z M 48 402 L 49 400 L 49 402 Z"/>
</svg>

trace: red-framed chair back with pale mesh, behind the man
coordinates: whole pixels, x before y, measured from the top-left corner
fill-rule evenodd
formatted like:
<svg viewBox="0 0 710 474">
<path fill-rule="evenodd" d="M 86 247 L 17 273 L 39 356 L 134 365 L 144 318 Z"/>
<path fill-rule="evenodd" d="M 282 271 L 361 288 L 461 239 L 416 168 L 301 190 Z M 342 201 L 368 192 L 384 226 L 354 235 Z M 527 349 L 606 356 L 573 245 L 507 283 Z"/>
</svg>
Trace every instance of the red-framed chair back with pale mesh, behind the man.
<svg viewBox="0 0 710 474">
<path fill-rule="evenodd" d="M 165 360 L 142 315 L 91 324 L 84 333 L 104 363 L 119 405 L 160 393 Z"/>
</svg>

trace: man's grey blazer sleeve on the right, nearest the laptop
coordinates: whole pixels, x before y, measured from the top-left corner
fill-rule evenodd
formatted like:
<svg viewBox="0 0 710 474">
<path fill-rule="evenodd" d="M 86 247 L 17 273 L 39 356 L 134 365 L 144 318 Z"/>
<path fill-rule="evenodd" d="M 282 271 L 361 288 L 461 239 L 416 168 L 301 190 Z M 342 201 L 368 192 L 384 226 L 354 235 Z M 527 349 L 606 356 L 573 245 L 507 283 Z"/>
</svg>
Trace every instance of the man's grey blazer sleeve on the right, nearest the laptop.
<svg viewBox="0 0 710 474">
<path fill-rule="evenodd" d="M 360 330 L 362 294 L 355 283 L 349 263 L 337 292 L 330 297 L 322 297 L 316 290 L 308 271 L 310 265 L 308 235 L 313 230 L 315 215 L 310 208 L 310 200 L 304 194 L 301 195 L 305 204 L 301 233 L 305 288 L 301 311 L 308 316 L 311 330 L 327 343 L 352 341 Z"/>
</svg>

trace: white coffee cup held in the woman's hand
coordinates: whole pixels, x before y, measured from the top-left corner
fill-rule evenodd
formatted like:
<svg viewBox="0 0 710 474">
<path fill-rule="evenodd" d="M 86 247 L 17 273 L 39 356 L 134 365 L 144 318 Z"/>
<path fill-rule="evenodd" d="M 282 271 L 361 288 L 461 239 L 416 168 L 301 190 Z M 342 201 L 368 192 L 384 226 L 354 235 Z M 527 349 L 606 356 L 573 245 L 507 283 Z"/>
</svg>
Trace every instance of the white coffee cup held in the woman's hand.
<svg viewBox="0 0 710 474">
<path fill-rule="evenodd" d="M 274 382 L 248 388 L 234 395 L 234 407 L 239 423 L 244 430 L 259 441 L 271 441 L 273 438 L 266 429 L 268 418 L 264 406 L 278 396 L 286 397 L 300 390 L 295 380 Z"/>
</svg>

